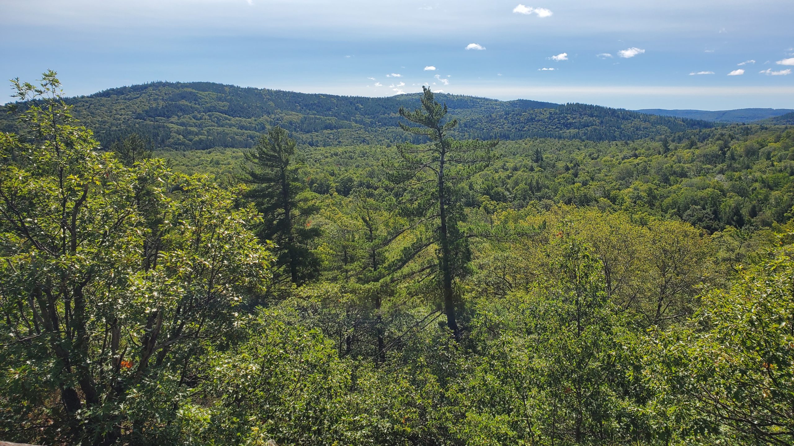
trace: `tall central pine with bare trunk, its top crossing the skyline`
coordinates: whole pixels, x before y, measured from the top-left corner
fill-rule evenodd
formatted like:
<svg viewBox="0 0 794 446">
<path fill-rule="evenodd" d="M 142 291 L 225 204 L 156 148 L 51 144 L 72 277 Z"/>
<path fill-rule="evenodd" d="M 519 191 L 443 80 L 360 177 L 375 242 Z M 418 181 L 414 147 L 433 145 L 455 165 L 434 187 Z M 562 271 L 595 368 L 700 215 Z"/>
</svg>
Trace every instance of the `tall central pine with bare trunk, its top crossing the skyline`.
<svg viewBox="0 0 794 446">
<path fill-rule="evenodd" d="M 418 240 L 406 250 L 406 254 L 408 259 L 414 259 L 426 248 L 437 244 L 434 267 L 438 274 L 441 302 L 447 326 L 459 340 L 461 331 L 457 325 L 458 303 L 453 283 L 464 274 L 470 253 L 459 225 L 463 206 L 457 186 L 461 180 L 491 163 L 491 149 L 499 141 L 453 140 L 449 131 L 455 128 L 457 120 L 445 121 L 446 105 L 441 106 L 435 101 L 429 88 L 422 89 L 422 108 L 412 112 L 402 107 L 399 109 L 401 117 L 419 126 L 402 122 L 399 125 L 406 132 L 426 137 L 430 144 L 398 145 L 399 161 L 392 169 L 407 187 L 407 212 L 410 216 L 422 225 L 435 226 L 432 237 Z"/>
</svg>

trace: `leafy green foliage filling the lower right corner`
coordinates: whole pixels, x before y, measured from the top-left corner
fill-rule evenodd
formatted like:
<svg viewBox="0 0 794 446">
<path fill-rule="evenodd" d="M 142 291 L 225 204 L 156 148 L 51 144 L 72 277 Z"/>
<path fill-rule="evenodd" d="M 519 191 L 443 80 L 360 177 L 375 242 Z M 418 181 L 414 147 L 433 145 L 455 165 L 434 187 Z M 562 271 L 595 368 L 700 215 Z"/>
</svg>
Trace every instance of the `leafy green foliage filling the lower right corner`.
<svg viewBox="0 0 794 446">
<path fill-rule="evenodd" d="M 791 246 L 703 296 L 688 323 L 654 336 L 651 407 L 676 444 L 794 441 Z"/>
</svg>

